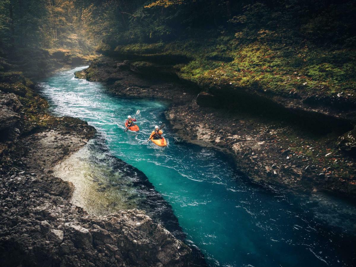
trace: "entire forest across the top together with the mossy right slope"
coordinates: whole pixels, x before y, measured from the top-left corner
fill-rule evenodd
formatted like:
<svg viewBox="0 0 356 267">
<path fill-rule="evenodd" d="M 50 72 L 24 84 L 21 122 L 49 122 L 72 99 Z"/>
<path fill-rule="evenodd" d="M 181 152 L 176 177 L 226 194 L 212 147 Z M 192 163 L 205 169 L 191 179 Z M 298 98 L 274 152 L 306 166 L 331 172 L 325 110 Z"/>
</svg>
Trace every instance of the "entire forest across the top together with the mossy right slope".
<svg viewBox="0 0 356 267">
<path fill-rule="evenodd" d="M 354 97 L 355 11 L 352 0 L 0 0 L 0 49 L 179 54 L 181 77 L 200 84 Z"/>
</svg>

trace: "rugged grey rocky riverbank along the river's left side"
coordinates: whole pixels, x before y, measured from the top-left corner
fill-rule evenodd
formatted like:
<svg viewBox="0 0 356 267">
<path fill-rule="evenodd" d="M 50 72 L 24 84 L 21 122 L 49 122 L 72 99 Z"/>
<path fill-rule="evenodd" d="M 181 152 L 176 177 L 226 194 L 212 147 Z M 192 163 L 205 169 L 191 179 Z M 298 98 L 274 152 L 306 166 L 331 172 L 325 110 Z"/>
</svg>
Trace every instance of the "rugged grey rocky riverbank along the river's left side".
<svg viewBox="0 0 356 267">
<path fill-rule="evenodd" d="M 54 117 L 20 72 L 0 72 L 0 265 L 183 266 L 191 249 L 141 210 L 89 215 L 53 167 L 95 129 Z"/>
</svg>

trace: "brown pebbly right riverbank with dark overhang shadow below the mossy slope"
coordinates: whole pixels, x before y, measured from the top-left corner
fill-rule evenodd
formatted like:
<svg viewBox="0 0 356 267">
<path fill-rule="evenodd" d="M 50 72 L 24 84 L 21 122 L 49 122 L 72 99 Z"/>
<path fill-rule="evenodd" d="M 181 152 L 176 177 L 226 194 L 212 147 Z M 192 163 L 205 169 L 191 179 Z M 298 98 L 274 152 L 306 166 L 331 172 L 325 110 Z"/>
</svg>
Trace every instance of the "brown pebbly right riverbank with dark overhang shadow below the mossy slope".
<svg viewBox="0 0 356 267">
<path fill-rule="evenodd" d="M 229 152 L 253 180 L 355 198 L 352 121 L 228 94 L 224 109 L 221 98 L 142 64 L 103 57 L 78 78 L 106 82 L 117 96 L 171 101 L 167 118 L 183 139 Z"/>
</svg>

